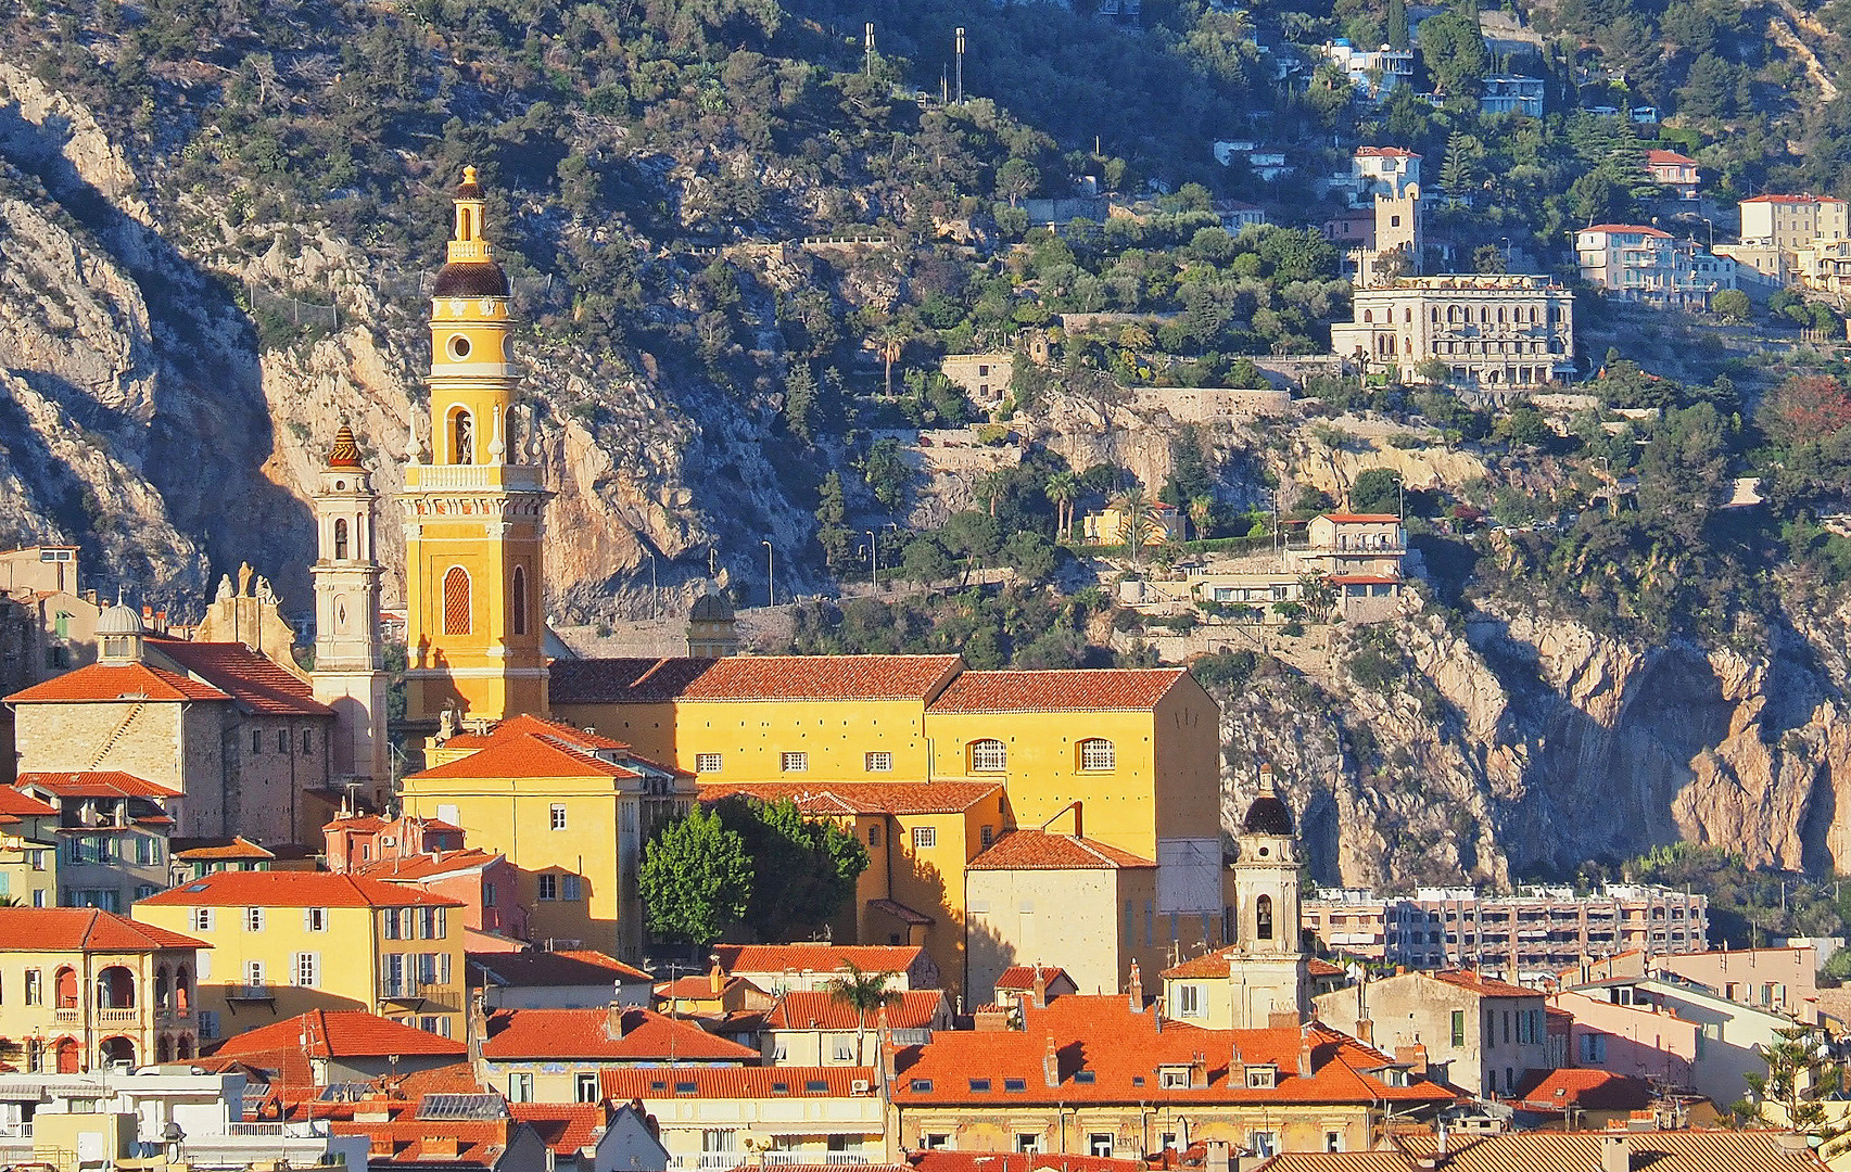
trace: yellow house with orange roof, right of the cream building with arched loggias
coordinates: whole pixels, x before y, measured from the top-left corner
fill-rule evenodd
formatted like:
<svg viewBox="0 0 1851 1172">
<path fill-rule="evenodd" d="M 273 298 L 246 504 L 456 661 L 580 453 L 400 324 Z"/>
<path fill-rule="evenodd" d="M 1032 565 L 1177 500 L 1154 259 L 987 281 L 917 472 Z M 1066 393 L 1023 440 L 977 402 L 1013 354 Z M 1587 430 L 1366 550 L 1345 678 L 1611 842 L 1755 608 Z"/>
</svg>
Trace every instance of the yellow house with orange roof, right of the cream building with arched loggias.
<svg viewBox="0 0 1851 1172">
<path fill-rule="evenodd" d="M 141 900 L 135 918 L 213 946 L 196 974 L 202 1039 L 311 1009 L 463 1037 L 461 907 L 348 874 L 228 870 Z"/>
</svg>

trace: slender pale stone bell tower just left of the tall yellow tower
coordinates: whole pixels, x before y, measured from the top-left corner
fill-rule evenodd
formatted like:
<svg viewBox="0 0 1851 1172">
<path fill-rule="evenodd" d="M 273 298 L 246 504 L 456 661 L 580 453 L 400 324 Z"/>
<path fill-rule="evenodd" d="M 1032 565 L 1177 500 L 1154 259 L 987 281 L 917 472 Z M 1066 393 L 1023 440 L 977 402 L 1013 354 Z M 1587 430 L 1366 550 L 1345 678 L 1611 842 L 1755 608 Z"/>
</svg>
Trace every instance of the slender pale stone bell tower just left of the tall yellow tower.
<svg viewBox="0 0 1851 1172">
<path fill-rule="evenodd" d="M 374 502 L 379 494 L 341 424 L 315 492 L 315 698 L 335 709 L 333 776 L 379 800 L 392 779 L 385 739 L 385 665 L 379 657 L 379 561 Z"/>
</svg>

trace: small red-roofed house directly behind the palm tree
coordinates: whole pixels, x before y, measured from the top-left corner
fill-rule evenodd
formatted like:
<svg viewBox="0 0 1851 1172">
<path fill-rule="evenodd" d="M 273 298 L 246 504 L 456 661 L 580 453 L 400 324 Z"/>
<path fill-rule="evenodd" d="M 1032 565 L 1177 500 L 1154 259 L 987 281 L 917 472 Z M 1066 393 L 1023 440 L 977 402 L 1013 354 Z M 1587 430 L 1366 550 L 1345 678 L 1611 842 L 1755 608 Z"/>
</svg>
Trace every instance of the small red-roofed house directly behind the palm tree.
<svg viewBox="0 0 1851 1172">
<path fill-rule="evenodd" d="M 764 1015 L 759 1050 L 766 1065 L 872 1066 L 883 1028 L 898 1046 L 924 1042 L 951 1028 L 951 1004 L 938 989 L 907 989 L 863 1018 L 827 989 L 792 991 Z"/>
</svg>

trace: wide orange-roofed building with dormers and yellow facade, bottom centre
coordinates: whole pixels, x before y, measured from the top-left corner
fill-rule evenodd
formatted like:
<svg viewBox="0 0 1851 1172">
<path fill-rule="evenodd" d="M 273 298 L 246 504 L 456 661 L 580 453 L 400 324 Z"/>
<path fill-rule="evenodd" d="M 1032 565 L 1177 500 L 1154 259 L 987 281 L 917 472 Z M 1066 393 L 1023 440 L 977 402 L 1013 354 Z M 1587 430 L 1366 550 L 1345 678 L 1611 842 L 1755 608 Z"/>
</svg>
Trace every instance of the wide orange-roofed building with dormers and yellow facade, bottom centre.
<svg viewBox="0 0 1851 1172">
<path fill-rule="evenodd" d="M 1124 994 L 1070 994 L 1022 1018 L 1020 1029 L 935 1033 L 898 1054 L 901 1144 L 1105 1157 L 1203 1141 L 1349 1150 L 1381 1139 L 1385 1107 L 1431 1118 L 1457 1100 L 1318 1024 L 1198 1029 L 1133 1011 Z"/>
</svg>

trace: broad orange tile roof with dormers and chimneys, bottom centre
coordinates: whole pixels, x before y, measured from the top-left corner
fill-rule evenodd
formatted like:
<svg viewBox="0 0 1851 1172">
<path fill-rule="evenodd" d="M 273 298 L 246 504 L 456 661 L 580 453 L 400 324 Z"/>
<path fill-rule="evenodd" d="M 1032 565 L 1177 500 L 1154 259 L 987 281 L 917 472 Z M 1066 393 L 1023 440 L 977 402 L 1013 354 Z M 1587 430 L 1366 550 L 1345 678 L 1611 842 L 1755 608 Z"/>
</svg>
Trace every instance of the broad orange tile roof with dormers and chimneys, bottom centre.
<svg viewBox="0 0 1851 1172">
<path fill-rule="evenodd" d="M 1298 1074 L 1301 1048 L 1311 1048 L 1311 1074 Z M 1055 1085 L 1046 1061 L 1053 1050 Z M 1273 1065 L 1273 1087 L 1248 1087 L 1231 1057 Z M 1190 1087 L 1164 1087 L 1161 1068 L 1190 1068 Z M 1024 1028 L 933 1033 L 929 1044 L 900 1055 L 894 1102 L 913 1105 L 1007 1109 L 1012 1103 L 1447 1103 L 1453 1092 L 1427 1079 L 1390 1087 L 1379 1072 L 1385 1054 L 1312 1024 L 1303 1029 L 1196 1029 L 1175 1022 L 1159 1028 L 1155 1013 L 1133 1013 L 1122 994 L 1070 994 L 1046 1009 L 1024 1007 Z M 1081 1081 L 1079 1072 L 1090 1072 Z M 988 1089 L 972 1089 L 988 1079 Z"/>
</svg>

